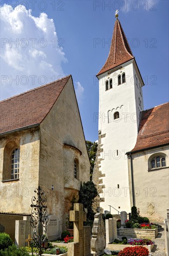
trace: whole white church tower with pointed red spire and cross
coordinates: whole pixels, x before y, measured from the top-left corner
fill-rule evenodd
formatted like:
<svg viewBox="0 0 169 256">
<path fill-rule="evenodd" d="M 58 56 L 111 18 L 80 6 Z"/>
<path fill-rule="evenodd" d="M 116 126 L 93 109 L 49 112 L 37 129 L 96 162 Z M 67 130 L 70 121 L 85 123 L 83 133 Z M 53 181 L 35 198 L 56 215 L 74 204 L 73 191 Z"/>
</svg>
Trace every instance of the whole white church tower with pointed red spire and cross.
<svg viewBox="0 0 169 256">
<path fill-rule="evenodd" d="M 143 107 L 143 79 L 118 19 L 109 55 L 97 74 L 99 79 L 99 146 L 94 182 L 99 184 L 100 207 L 117 214 L 131 211 L 126 152 L 134 148 L 140 111 Z M 133 35 L 134 36 L 134 35 Z M 112 206 L 112 207 L 110 207 Z M 115 209 L 113 209 L 115 208 Z"/>
</svg>

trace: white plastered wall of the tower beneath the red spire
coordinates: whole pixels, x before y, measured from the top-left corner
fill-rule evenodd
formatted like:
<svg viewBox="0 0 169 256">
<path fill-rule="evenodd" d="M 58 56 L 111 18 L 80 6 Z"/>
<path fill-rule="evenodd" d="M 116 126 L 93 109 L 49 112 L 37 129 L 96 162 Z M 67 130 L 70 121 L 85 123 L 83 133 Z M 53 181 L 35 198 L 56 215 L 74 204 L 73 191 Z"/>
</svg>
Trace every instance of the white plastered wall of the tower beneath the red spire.
<svg viewBox="0 0 169 256">
<path fill-rule="evenodd" d="M 125 73 L 125 82 L 118 85 L 118 76 Z M 125 153 L 134 148 L 139 125 L 139 113 L 143 110 L 142 86 L 144 85 L 135 59 L 127 61 L 99 79 L 99 133 L 102 152 L 99 156 L 102 173 L 100 207 L 109 210 L 110 205 L 119 211 L 131 211 L 128 163 Z M 110 80 L 113 86 L 110 88 Z M 106 90 L 106 81 L 109 89 Z M 114 120 L 114 113 L 119 118 Z M 131 191 L 130 191 L 131 193 Z M 104 202 L 103 202 L 104 201 Z M 119 208 L 120 207 L 120 208 Z M 117 211 L 111 208 L 111 213 Z"/>
</svg>

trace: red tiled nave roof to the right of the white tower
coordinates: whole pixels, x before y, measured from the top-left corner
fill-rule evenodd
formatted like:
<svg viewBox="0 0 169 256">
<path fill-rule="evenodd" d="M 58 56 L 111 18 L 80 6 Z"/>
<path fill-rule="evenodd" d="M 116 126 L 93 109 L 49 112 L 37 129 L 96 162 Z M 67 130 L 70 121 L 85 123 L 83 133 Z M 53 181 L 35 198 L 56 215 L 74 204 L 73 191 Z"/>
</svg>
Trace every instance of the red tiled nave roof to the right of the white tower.
<svg viewBox="0 0 169 256">
<path fill-rule="evenodd" d="M 131 152 L 168 143 L 169 102 L 142 111 L 140 113 L 137 142 Z"/>
</svg>

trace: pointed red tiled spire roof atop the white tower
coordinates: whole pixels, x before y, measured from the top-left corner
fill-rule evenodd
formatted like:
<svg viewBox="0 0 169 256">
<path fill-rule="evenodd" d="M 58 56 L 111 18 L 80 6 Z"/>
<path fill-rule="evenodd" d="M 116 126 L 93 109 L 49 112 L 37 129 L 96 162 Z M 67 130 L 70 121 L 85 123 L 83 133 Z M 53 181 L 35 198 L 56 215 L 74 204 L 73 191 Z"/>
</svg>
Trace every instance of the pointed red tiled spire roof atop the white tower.
<svg viewBox="0 0 169 256">
<path fill-rule="evenodd" d="M 97 75 L 117 67 L 126 61 L 130 61 L 133 58 L 134 56 L 131 52 L 131 48 L 126 39 L 123 28 L 119 20 L 116 19 L 108 58 L 105 65 L 101 68 Z"/>
</svg>

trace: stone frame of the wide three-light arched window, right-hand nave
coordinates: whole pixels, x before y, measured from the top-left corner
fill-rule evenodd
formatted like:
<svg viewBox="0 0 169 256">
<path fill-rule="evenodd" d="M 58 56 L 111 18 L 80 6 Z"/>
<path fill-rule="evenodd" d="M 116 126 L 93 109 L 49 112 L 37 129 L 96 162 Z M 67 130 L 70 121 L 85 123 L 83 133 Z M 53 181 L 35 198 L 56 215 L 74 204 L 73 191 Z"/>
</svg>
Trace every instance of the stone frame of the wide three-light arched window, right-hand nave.
<svg viewBox="0 0 169 256">
<path fill-rule="evenodd" d="M 160 158 L 160 166 L 157 167 L 157 158 Z M 162 160 L 165 159 L 165 165 L 162 165 Z M 155 166 L 152 168 L 152 161 L 154 161 Z M 155 153 L 151 155 L 148 159 L 148 171 L 153 171 L 153 170 L 158 170 L 158 169 L 163 169 L 163 168 L 168 168 L 168 157 L 164 153 Z"/>
</svg>

